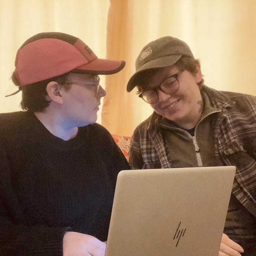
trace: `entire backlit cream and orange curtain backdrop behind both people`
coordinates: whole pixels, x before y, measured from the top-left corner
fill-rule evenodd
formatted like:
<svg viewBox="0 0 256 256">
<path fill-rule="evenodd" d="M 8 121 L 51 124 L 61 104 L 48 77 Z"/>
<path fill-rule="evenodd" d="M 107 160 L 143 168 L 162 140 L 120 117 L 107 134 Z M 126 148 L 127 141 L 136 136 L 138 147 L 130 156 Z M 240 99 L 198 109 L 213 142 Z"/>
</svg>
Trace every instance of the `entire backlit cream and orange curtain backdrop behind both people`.
<svg viewBox="0 0 256 256">
<path fill-rule="evenodd" d="M 20 110 L 20 93 L 4 97 L 16 91 L 9 80 L 15 54 L 44 31 L 77 36 L 98 57 L 126 61 L 121 72 L 106 76 L 98 115 L 112 134 L 131 136 L 152 113 L 135 89 L 126 92 L 126 84 L 141 48 L 161 36 L 188 43 L 201 60 L 206 85 L 256 95 L 255 16 L 254 0 L 0 0 L 0 112 Z M 104 87 L 104 76 L 101 81 Z"/>
</svg>

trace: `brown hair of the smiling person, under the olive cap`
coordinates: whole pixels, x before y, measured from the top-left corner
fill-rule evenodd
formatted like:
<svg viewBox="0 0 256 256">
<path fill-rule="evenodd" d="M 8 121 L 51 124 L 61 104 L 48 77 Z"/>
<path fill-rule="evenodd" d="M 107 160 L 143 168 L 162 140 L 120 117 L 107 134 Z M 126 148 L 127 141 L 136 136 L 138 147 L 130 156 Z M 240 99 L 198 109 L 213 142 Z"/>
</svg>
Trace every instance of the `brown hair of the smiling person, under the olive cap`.
<svg viewBox="0 0 256 256">
<path fill-rule="evenodd" d="M 180 59 L 173 66 L 178 67 L 180 70 L 186 69 L 193 76 L 195 76 L 196 68 L 197 68 L 197 65 L 199 65 L 199 64 L 200 64 L 200 60 L 182 55 L 180 57 Z M 165 67 L 150 68 L 150 69 L 141 71 L 136 76 L 136 79 L 134 81 L 134 83 L 136 84 L 137 89 L 138 89 L 137 93 L 139 94 L 142 91 L 142 89 L 149 83 L 149 81 L 152 79 L 152 77 L 155 76 L 158 72 L 161 72 L 161 70 L 163 68 L 165 68 Z M 204 85 L 204 79 L 202 78 L 202 80 L 198 83 L 198 87 L 200 90 L 202 89 L 203 85 Z"/>
</svg>

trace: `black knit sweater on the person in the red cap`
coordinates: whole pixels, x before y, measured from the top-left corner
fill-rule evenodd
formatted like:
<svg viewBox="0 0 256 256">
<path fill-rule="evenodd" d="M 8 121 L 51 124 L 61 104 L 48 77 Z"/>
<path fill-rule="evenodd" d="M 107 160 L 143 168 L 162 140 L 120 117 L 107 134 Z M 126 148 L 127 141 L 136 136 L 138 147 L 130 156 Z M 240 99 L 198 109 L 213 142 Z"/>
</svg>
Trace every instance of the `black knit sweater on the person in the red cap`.
<svg viewBox="0 0 256 256">
<path fill-rule="evenodd" d="M 99 124 L 64 141 L 33 113 L 0 114 L 0 255 L 62 255 L 68 230 L 107 240 L 116 176 L 125 169 Z"/>
</svg>

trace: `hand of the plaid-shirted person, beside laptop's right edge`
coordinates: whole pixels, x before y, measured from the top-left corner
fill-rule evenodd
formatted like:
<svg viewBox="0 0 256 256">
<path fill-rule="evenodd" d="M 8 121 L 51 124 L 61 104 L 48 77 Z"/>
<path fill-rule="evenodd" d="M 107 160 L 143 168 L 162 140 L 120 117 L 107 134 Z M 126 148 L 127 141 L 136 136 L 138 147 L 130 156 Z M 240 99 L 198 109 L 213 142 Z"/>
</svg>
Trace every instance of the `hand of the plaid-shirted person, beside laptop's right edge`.
<svg viewBox="0 0 256 256">
<path fill-rule="evenodd" d="M 244 252 L 242 246 L 235 243 L 226 234 L 223 234 L 220 244 L 219 256 L 241 256 L 239 252 Z"/>
</svg>

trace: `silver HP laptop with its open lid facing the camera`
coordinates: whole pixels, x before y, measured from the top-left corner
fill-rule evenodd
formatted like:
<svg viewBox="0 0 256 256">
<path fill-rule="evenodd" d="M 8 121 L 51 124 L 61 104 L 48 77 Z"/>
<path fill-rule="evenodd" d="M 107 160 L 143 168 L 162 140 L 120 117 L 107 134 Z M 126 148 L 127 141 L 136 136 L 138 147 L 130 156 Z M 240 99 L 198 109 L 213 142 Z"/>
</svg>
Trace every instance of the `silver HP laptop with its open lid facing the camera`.
<svg viewBox="0 0 256 256">
<path fill-rule="evenodd" d="M 218 256 L 235 166 L 118 174 L 105 256 Z"/>
</svg>

